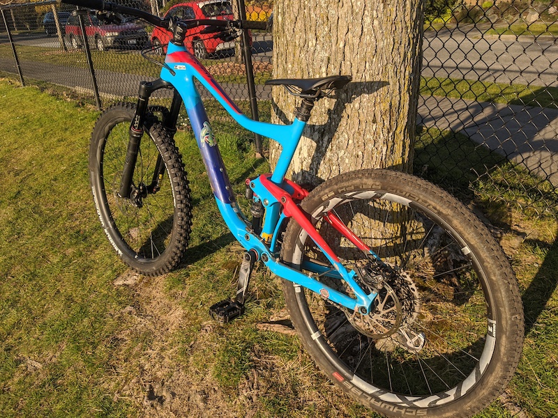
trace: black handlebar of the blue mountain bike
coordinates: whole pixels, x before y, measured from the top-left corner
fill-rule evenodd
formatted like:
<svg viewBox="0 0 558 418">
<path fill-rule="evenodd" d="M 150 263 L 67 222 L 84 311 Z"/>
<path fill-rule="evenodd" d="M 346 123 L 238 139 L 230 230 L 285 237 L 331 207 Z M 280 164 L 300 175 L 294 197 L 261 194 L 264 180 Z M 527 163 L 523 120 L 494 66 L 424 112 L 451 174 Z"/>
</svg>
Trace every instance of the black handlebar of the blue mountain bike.
<svg viewBox="0 0 558 418">
<path fill-rule="evenodd" d="M 105 10 L 107 12 L 121 13 L 123 15 L 130 15 L 139 17 L 153 26 L 158 26 L 163 29 L 170 30 L 172 21 L 169 19 L 161 19 L 156 15 L 145 12 L 133 7 L 121 6 L 120 4 L 112 3 L 103 0 L 56 0 L 58 3 L 73 4 L 83 8 L 90 8 L 95 10 Z M 198 19 L 198 20 L 183 20 L 186 24 L 185 29 L 191 29 L 196 26 L 227 26 L 236 29 L 267 29 L 266 22 L 252 22 L 249 20 L 213 20 L 213 19 Z"/>
</svg>

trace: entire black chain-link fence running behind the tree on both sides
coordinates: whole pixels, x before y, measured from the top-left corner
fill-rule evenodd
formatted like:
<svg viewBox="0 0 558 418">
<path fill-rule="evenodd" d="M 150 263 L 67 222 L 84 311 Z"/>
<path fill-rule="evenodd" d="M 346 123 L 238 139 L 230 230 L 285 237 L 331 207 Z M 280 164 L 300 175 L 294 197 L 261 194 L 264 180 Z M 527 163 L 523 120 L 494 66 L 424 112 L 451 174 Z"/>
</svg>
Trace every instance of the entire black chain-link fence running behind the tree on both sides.
<svg viewBox="0 0 558 418">
<path fill-rule="evenodd" d="M 124 4 L 158 15 L 232 19 L 245 13 L 262 21 L 273 9 L 273 0 Z M 140 80 L 158 77 L 159 65 L 143 59 L 140 51 L 145 45 L 164 50 L 165 31 L 126 19 L 107 24 L 91 15 L 81 15 L 79 22 L 70 15 L 73 6 L 54 1 L 11 3 L 1 10 L 0 72 L 19 75 L 22 82 L 70 87 L 106 107 L 135 98 Z M 555 213 L 557 20 L 556 0 L 425 2 L 416 173 L 454 191 L 496 191 L 504 201 Z M 255 98 L 270 98 L 264 82 L 271 77 L 273 39 L 266 31 L 250 33 L 252 92 L 240 39 L 193 33 L 186 46 L 250 111 L 250 99 L 254 104 Z M 162 58 L 157 52 L 149 55 L 155 61 Z"/>
</svg>

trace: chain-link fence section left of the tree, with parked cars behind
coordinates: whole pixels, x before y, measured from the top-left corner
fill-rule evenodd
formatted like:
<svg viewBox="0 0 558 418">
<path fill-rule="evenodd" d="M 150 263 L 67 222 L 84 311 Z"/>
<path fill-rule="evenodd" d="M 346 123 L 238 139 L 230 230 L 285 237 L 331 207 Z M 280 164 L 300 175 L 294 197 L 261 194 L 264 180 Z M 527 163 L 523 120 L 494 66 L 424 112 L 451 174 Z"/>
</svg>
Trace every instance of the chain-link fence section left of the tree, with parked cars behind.
<svg viewBox="0 0 558 418">
<path fill-rule="evenodd" d="M 236 5 L 236 1 L 233 3 Z M 163 4 L 126 1 L 123 4 L 184 18 L 232 20 L 239 13 L 238 7 L 233 8 L 226 0 L 163 1 Z M 166 49 L 168 31 L 126 17 L 120 24 L 114 24 L 95 15 L 71 15 L 75 9 L 55 1 L 3 5 L 0 71 L 20 74 L 22 82 L 39 80 L 84 93 L 98 91 L 103 105 L 114 99 L 136 96 L 141 80 L 158 77 L 160 66 L 143 59 L 141 50 L 146 45 L 163 45 L 159 52 Z M 270 14 L 271 6 L 246 6 L 248 19 L 265 21 Z M 248 100 L 240 38 L 229 40 L 219 33 L 203 33 L 199 29 L 191 32 L 186 38 L 190 52 L 204 62 L 232 98 Z M 262 84 L 271 76 L 271 35 L 252 31 L 250 44 L 255 79 Z M 156 59 L 156 52 L 150 56 Z"/>
</svg>

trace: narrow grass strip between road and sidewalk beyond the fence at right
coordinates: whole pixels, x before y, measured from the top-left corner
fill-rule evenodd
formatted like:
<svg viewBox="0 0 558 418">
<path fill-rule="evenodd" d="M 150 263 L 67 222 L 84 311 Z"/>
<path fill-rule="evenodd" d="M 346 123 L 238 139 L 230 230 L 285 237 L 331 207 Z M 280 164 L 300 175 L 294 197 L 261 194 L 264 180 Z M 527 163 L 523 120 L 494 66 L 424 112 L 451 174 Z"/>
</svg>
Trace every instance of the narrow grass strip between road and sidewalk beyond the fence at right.
<svg viewBox="0 0 558 418">
<path fill-rule="evenodd" d="M 419 88 L 423 95 L 558 109 L 558 87 L 421 77 Z"/>
</svg>

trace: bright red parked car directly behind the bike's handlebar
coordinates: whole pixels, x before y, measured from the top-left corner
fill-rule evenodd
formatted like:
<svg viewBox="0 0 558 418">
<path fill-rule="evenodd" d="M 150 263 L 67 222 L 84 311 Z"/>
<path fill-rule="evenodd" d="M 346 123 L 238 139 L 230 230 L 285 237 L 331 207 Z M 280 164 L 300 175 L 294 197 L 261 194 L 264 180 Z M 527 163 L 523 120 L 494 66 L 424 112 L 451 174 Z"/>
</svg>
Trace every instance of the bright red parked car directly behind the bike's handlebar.
<svg viewBox="0 0 558 418">
<path fill-rule="evenodd" d="M 217 19 L 233 20 L 232 6 L 228 0 L 193 1 L 179 3 L 169 8 L 165 17 L 176 16 L 179 19 Z M 207 28 L 207 29 L 206 29 Z M 205 29 L 205 30 L 204 30 Z M 209 31 L 209 32 L 208 32 Z M 161 52 L 166 51 L 166 45 L 171 40 L 172 33 L 165 29 L 155 28 L 151 33 L 151 44 L 161 45 Z M 234 47 L 234 41 L 225 40 L 227 34 L 221 28 L 211 30 L 208 26 L 198 26 L 186 32 L 184 46 L 195 54 L 197 59 L 204 59 L 223 49 Z"/>
</svg>

